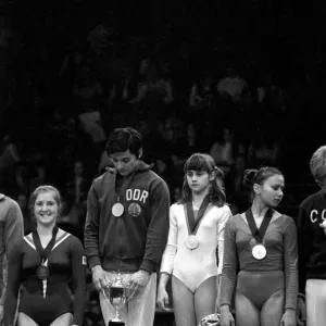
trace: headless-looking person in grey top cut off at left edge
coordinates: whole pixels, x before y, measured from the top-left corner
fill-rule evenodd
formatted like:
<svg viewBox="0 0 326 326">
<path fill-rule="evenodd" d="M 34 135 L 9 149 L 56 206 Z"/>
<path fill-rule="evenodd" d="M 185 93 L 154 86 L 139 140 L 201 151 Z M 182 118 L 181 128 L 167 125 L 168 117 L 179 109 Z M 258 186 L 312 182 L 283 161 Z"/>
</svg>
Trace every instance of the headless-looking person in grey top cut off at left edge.
<svg viewBox="0 0 326 326">
<path fill-rule="evenodd" d="M 3 304 L 8 279 L 8 258 L 24 236 L 23 214 L 18 204 L 0 193 L 0 325 L 3 318 Z"/>
</svg>

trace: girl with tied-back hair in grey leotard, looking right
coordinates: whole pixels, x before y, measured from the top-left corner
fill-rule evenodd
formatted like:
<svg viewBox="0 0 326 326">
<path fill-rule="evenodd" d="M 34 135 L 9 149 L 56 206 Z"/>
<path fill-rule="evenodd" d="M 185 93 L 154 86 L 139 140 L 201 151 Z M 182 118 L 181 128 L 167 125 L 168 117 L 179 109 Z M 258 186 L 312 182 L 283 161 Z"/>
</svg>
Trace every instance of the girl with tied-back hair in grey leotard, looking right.
<svg viewBox="0 0 326 326">
<path fill-rule="evenodd" d="M 275 167 L 261 167 L 246 171 L 243 181 L 250 186 L 253 201 L 246 213 L 231 216 L 225 227 L 222 326 L 235 325 L 230 313 L 235 285 L 238 326 L 294 326 L 296 225 L 291 217 L 275 211 L 283 199 L 284 176 Z"/>
</svg>

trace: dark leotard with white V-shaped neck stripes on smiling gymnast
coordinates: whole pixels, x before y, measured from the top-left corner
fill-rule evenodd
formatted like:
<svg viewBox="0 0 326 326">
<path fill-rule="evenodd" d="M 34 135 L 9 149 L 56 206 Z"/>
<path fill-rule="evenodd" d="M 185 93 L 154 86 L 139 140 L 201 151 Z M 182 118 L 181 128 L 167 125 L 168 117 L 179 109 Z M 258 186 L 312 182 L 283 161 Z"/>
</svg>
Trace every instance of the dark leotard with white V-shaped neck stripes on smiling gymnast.
<svg viewBox="0 0 326 326">
<path fill-rule="evenodd" d="M 15 247 L 9 259 L 8 290 L 4 301 L 4 325 L 13 325 L 20 285 L 18 312 L 39 326 L 48 326 L 64 313 L 73 313 L 73 324 L 82 325 L 86 303 L 86 259 L 82 242 L 63 233 L 57 236 L 48 258 L 47 281 L 36 276 L 40 258 L 32 235 Z M 74 300 L 70 289 L 72 280 Z"/>
</svg>

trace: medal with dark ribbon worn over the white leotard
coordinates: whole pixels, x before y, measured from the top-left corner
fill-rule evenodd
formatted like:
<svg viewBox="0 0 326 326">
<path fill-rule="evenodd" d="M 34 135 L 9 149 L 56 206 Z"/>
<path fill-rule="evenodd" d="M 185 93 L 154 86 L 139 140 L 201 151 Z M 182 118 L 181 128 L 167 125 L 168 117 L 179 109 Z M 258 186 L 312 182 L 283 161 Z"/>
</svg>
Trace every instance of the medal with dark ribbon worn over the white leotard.
<svg viewBox="0 0 326 326">
<path fill-rule="evenodd" d="M 193 206 L 192 206 L 192 201 L 188 201 L 185 204 L 185 214 L 186 214 L 186 221 L 187 221 L 187 226 L 188 226 L 188 237 L 185 241 L 186 247 L 190 250 L 195 250 L 199 244 L 199 239 L 196 236 L 198 228 L 200 226 L 200 223 L 204 216 L 204 213 L 210 204 L 210 198 L 206 196 L 198 212 L 197 221 L 195 218 L 195 213 L 193 213 Z"/>
</svg>

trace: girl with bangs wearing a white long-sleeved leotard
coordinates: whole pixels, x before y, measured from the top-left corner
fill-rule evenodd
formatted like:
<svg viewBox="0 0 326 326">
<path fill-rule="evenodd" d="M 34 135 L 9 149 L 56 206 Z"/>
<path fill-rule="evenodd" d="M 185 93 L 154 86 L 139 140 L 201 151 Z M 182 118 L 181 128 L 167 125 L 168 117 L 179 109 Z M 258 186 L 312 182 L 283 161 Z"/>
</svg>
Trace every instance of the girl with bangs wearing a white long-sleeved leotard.
<svg viewBox="0 0 326 326">
<path fill-rule="evenodd" d="M 158 304 L 161 309 L 168 305 L 166 284 L 172 274 L 176 325 L 196 326 L 214 313 L 217 275 L 223 264 L 224 226 L 231 213 L 225 204 L 223 173 L 210 155 L 191 155 L 184 171 L 181 199 L 170 210 Z"/>
</svg>

